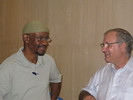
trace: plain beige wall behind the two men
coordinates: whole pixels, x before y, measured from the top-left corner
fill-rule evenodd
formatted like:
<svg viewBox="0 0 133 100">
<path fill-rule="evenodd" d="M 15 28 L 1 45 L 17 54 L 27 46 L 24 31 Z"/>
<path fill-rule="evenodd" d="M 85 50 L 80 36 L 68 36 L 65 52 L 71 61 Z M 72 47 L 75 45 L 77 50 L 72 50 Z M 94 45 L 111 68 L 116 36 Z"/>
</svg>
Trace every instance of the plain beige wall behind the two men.
<svg viewBox="0 0 133 100">
<path fill-rule="evenodd" d="M 0 0 L 0 63 L 23 44 L 27 21 L 40 20 L 49 30 L 48 53 L 63 75 L 60 96 L 78 100 L 94 72 L 105 62 L 100 43 L 114 27 L 133 35 L 133 0 Z"/>
</svg>

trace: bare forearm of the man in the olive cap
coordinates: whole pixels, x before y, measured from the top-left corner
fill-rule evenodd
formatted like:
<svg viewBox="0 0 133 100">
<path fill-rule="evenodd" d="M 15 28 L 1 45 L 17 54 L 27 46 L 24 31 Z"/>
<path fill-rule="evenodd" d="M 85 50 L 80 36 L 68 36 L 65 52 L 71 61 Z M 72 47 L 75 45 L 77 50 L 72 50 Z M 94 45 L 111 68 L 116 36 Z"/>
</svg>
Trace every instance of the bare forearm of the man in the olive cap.
<svg viewBox="0 0 133 100">
<path fill-rule="evenodd" d="M 51 100 L 57 100 L 61 90 L 61 83 L 50 83 L 51 87 Z"/>
</svg>

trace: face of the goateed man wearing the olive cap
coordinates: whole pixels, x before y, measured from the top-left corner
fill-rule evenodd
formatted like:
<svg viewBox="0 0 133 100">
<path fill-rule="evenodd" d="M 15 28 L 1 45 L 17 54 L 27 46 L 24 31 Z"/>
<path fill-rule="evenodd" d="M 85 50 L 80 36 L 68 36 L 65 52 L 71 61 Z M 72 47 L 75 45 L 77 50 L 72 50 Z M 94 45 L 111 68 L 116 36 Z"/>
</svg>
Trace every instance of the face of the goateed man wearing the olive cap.
<svg viewBox="0 0 133 100">
<path fill-rule="evenodd" d="M 44 55 L 48 46 L 49 34 L 47 32 L 37 32 L 29 34 L 28 48 L 30 52 L 37 55 Z"/>
</svg>

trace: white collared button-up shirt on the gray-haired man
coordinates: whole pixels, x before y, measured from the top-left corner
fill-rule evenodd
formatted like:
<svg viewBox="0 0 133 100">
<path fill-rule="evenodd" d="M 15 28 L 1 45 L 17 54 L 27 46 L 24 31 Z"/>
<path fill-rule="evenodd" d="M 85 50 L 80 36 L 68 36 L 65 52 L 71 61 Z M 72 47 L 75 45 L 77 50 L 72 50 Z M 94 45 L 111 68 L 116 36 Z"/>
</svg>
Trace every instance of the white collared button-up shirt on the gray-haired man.
<svg viewBox="0 0 133 100">
<path fill-rule="evenodd" d="M 133 57 L 119 70 L 107 63 L 83 90 L 91 93 L 96 100 L 133 100 Z"/>
</svg>

